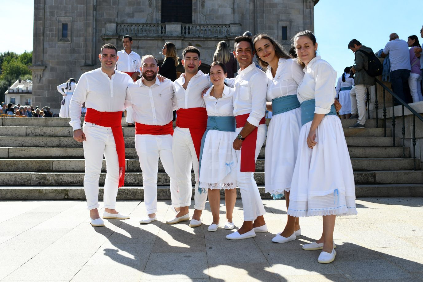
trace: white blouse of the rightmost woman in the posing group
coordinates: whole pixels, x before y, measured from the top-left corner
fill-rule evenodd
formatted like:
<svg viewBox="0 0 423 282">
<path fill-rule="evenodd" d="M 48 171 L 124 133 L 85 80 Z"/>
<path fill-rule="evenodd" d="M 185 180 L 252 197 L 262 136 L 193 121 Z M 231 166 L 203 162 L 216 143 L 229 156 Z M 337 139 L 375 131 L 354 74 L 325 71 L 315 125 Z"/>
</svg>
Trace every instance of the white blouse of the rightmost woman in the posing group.
<svg viewBox="0 0 423 282">
<path fill-rule="evenodd" d="M 336 71 L 320 56 L 314 57 L 304 68 L 304 79 L 298 86 L 300 103 L 315 99 L 315 114 L 327 114 L 335 100 Z"/>
</svg>

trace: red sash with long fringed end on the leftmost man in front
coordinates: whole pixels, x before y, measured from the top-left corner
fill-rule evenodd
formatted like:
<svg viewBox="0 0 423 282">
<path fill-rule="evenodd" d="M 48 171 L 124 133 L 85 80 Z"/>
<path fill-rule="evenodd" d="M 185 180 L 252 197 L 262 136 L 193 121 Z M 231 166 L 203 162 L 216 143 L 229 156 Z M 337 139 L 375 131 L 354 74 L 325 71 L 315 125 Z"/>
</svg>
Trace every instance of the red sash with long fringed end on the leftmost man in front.
<svg viewBox="0 0 423 282">
<path fill-rule="evenodd" d="M 125 182 L 125 141 L 121 126 L 122 111 L 120 112 L 99 112 L 92 108 L 87 108 L 85 121 L 99 126 L 111 127 L 113 138 L 116 144 L 116 153 L 119 161 L 119 184 L 118 188 L 124 186 Z"/>
</svg>

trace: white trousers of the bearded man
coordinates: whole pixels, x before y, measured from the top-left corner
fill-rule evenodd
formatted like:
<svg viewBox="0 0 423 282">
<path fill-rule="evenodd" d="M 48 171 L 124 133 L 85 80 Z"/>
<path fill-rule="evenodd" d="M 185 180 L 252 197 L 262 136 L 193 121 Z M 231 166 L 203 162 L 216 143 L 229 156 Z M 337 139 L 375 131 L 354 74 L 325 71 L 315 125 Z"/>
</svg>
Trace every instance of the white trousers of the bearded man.
<svg viewBox="0 0 423 282">
<path fill-rule="evenodd" d="M 147 214 L 157 213 L 157 172 L 159 157 L 170 177 L 172 205 L 179 207 L 178 186 L 173 167 L 172 135 L 135 134 L 135 149 L 143 171 L 144 203 Z"/>
</svg>

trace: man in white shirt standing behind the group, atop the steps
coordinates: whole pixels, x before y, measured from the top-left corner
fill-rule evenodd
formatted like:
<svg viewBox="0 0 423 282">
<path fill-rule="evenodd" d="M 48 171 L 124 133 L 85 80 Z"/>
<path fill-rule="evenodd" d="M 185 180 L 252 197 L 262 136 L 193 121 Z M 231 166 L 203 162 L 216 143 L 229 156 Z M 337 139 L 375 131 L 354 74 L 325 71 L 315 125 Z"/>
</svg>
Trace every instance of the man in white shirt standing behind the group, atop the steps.
<svg viewBox="0 0 423 282">
<path fill-rule="evenodd" d="M 137 81 L 137 77 L 141 75 L 141 57 L 132 51 L 132 36 L 126 35 L 122 38 L 124 49 L 118 52 L 119 60 L 116 69 L 128 74 L 132 80 Z M 129 126 L 134 127 L 134 119 L 132 118 L 132 107 L 126 108 L 126 122 Z"/>
</svg>

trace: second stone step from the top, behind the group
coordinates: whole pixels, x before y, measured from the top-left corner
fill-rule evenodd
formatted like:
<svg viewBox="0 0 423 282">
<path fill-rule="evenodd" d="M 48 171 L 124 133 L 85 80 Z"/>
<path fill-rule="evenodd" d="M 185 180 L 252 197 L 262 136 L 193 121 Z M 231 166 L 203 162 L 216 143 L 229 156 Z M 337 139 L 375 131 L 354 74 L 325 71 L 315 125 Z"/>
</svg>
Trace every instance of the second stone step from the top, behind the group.
<svg viewBox="0 0 423 282">
<path fill-rule="evenodd" d="M 124 137 L 134 137 L 134 127 L 123 127 Z M 383 137 L 383 128 L 364 128 L 364 129 L 343 129 L 345 137 Z M 0 126 L 0 136 L 16 137 L 72 137 L 73 130 L 70 126 Z M 387 130 L 387 137 L 391 136 L 390 129 Z"/>
</svg>

